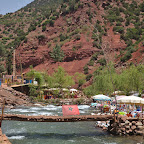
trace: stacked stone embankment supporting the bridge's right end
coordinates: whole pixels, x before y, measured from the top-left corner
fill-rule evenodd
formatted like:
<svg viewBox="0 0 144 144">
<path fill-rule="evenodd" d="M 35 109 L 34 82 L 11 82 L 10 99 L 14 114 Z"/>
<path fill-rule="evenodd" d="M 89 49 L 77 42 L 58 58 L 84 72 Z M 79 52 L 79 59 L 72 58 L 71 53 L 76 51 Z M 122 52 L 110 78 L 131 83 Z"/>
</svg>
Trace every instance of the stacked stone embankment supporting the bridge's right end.
<svg viewBox="0 0 144 144">
<path fill-rule="evenodd" d="M 114 135 L 140 135 L 144 136 L 144 119 L 126 118 L 120 117 L 119 120 L 114 123 L 114 120 L 110 121 L 108 131 Z"/>
</svg>

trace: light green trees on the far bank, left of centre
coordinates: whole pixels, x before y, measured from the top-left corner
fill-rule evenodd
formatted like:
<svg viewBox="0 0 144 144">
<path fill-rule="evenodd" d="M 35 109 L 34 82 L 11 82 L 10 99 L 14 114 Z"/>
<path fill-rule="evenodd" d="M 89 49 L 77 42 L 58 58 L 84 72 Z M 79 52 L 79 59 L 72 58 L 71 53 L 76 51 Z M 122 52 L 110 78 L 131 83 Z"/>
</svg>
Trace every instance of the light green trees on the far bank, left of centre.
<svg viewBox="0 0 144 144">
<path fill-rule="evenodd" d="M 39 96 L 42 86 L 45 84 L 47 88 L 68 88 L 75 84 L 73 77 L 68 75 L 62 67 L 58 67 L 52 76 L 47 73 L 38 72 L 33 69 L 27 73 L 27 77 L 33 81 L 37 81 L 37 85 L 31 84 L 30 96 Z M 57 94 L 60 94 L 58 92 Z"/>
</svg>

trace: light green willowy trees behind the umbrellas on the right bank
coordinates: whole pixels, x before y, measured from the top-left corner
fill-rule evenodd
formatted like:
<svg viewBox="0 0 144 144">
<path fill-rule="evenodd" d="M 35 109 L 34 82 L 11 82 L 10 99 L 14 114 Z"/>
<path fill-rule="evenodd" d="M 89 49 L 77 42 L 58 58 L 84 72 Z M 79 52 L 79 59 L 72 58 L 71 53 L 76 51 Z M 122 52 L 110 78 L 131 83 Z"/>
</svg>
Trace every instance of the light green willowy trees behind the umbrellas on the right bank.
<svg viewBox="0 0 144 144">
<path fill-rule="evenodd" d="M 131 91 L 142 92 L 144 85 L 144 65 L 132 65 L 127 69 L 123 69 L 121 73 L 116 73 L 112 65 L 109 65 L 109 67 L 110 72 L 105 67 L 102 70 L 98 69 L 94 73 L 93 84 L 84 90 L 86 95 L 92 96 L 98 93 L 111 94 L 114 90 L 124 91 L 126 95 L 129 95 Z"/>
</svg>

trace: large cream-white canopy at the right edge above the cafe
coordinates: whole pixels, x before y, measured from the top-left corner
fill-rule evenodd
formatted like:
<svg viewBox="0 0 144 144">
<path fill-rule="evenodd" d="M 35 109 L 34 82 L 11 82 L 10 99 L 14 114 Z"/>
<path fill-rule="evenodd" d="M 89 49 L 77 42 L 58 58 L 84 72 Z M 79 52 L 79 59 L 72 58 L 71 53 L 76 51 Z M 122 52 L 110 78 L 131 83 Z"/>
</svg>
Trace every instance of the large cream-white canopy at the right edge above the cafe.
<svg viewBox="0 0 144 144">
<path fill-rule="evenodd" d="M 136 105 L 144 105 L 144 99 L 137 96 L 127 96 L 122 97 L 117 100 L 119 104 L 136 104 Z"/>
</svg>

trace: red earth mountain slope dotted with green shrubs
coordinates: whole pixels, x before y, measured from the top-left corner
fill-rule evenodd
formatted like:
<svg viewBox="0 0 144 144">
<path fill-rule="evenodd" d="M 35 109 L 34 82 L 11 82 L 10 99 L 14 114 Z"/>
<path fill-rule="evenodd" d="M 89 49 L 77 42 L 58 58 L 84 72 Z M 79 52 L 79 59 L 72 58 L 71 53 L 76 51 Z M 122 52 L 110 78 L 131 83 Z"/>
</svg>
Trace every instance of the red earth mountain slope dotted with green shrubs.
<svg viewBox="0 0 144 144">
<path fill-rule="evenodd" d="M 89 75 L 109 61 L 115 67 L 143 63 L 143 1 L 57 2 L 35 0 L 1 17 L 0 41 L 16 49 L 18 71 L 20 59 L 24 71 L 33 65 L 52 73 L 61 65 L 71 75 Z M 56 45 L 64 53 L 61 61 L 52 58 Z"/>
</svg>

